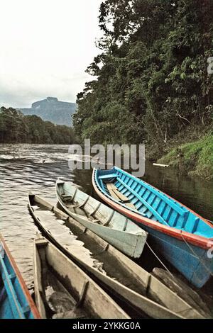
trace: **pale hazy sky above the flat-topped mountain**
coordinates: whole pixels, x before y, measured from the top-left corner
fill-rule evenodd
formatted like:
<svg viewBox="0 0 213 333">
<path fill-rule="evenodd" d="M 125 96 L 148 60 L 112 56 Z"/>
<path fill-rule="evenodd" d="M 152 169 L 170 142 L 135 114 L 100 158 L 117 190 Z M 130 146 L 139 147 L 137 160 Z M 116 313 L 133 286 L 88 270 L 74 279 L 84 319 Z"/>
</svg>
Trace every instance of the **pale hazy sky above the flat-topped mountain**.
<svg viewBox="0 0 213 333">
<path fill-rule="evenodd" d="M 99 50 L 102 0 L 0 0 L 0 106 L 75 101 Z"/>
</svg>

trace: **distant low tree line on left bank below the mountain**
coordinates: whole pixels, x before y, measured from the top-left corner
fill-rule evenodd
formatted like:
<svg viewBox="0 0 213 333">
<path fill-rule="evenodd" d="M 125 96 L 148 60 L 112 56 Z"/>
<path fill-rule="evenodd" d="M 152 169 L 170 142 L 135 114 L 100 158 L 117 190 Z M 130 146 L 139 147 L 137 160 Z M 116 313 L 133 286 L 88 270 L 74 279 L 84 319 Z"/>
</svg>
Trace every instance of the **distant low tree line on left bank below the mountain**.
<svg viewBox="0 0 213 333">
<path fill-rule="evenodd" d="M 72 144 L 72 128 L 43 121 L 37 115 L 23 115 L 13 108 L 0 108 L 0 142 Z"/>
</svg>

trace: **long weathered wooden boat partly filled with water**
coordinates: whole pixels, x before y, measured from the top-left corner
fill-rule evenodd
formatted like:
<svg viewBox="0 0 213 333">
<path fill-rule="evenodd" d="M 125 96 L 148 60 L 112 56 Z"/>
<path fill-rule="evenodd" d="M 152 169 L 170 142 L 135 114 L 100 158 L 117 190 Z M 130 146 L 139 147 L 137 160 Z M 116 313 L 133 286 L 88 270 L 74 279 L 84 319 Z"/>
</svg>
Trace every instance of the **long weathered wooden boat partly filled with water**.
<svg viewBox="0 0 213 333">
<path fill-rule="evenodd" d="M 53 204 L 31 193 L 28 206 L 45 235 L 139 317 L 203 318 L 157 278 Z"/>
</svg>

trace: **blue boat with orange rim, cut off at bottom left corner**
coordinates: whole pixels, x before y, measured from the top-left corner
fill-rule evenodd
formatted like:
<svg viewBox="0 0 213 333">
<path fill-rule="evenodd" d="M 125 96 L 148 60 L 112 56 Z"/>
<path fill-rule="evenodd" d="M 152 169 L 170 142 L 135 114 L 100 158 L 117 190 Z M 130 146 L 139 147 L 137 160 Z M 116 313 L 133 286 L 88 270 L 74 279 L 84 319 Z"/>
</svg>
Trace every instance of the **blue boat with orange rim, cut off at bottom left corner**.
<svg viewBox="0 0 213 333">
<path fill-rule="evenodd" d="M 0 319 L 38 318 L 38 310 L 0 234 Z"/>
</svg>

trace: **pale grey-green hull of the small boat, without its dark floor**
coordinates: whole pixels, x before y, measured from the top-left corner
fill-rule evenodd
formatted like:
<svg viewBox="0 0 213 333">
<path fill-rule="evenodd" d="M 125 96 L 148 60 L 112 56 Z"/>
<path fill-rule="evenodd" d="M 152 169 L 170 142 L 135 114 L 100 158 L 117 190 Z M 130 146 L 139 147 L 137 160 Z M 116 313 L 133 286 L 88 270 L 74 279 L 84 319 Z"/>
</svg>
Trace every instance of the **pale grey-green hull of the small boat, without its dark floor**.
<svg viewBox="0 0 213 333">
<path fill-rule="evenodd" d="M 60 186 L 65 186 L 66 193 L 69 193 L 70 190 L 70 195 L 73 195 L 73 192 L 77 191 L 75 198 L 77 197 L 79 203 L 86 202 L 85 206 L 87 208 L 85 207 L 85 209 L 87 209 L 87 215 L 99 205 L 97 213 L 99 210 L 102 210 L 104 219 L 109 220 L 110 225 L 109 222 L 107 222 L 108 226 L 104 226 L 104 222 L 102 222 L 103 224 L 91 222 L 86 216 L 77 213 L 74 209 L 68 208 L 60 196 Z M 99 203 L 94 198 L 87 196 L 86 193 L 78 189 L 76 190 L 76 188 L 73 190 L 73 188 L 75 187 L 71 186 L 68 182 L 64 183 L 60 181 L 56 183 L 56 196 L 65 212 L 124 254 L 133 258 L 139 258 L 146 243 L 147 233 L 131 220 L 124 218 L 123 215 L 114 212 L 114 210 L 111 210 L 111 208 L 103 203 Z M 83 208 L 84 205 L 81 205 L 81 207 Z"/>
</svg>

